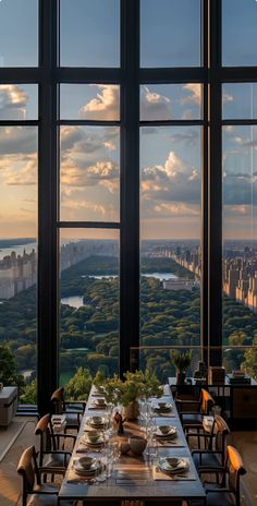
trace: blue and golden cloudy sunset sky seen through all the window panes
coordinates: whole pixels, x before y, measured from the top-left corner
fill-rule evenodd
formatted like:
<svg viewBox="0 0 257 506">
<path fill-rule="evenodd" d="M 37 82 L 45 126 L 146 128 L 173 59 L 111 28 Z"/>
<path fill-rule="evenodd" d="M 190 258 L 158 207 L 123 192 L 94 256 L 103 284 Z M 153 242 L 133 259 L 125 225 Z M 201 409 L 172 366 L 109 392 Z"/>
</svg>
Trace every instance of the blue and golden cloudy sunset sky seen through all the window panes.
<svg viewBox="0 0 257 506">
<path fill-rule="evenodd" d="M 143 67 L 200 64 L 199 4 L 198 0 L 142 1 Z M 223 2 L 224 64 L 257 64 L 257 2 L 246 0 L 243 13 L 241 7 L 240 0 Z M 118 67 L 119 15 L 118 0 L 61 0 L 61 64 Z M 0 67 L 37 64 L 36 24 L 36 0 L 0 1 Z M 242 36 L 232 39 L 231 26 L 243 31 Z M 138 93 L 142 120 L 201 118 L 199 84 L 142 85 Z M 119 121 L 119 111 L 118 85 L 61 85 L 64 121 Z M 0 83 L 0 120 L 37 118 L 37 85 Z M 257 85 L 223 85 L 223 118 L 256 119 Z M 119 221 L 119 125 L 65 124 L 60 137 L 60 218 Z M 142 238 L 200 238 L 200 126 L 142 128 Z M 256 146 L 257 126 L 223 128 L 227 239 L 257 239 Z M 0 237 L 34 237 L 36 221 L 37 128 L 0 124 Z"/>
</svg>

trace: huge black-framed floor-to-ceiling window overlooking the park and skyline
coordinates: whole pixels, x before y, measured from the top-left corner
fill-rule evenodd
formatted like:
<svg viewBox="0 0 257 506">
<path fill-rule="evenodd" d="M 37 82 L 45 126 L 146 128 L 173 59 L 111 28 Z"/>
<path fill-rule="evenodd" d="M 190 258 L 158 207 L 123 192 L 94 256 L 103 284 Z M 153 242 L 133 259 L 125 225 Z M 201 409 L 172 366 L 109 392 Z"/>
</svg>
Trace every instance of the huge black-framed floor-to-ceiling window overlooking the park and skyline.
<svg viewBox="0 0 257 506">
<path fill-rule="evenodd" d="M 172 347 L 256 374 L 256 2 L 25 3 L 0 2 L 0 340 L 28 383 L 38 356 L 40 409 L 81 366 L 173 374 Z"/>
</svg>

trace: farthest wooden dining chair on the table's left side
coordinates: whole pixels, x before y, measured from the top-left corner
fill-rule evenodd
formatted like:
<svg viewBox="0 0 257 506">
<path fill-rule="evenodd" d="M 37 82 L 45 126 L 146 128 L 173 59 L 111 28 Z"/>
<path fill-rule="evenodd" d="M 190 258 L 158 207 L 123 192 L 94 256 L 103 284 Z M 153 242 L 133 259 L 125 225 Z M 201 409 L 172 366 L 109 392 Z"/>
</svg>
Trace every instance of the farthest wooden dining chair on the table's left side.
<svg viewBox="0 0 257 506">
<path fill-rule="evenodd" d="M 86 402 L 64 400 L 64 388 L 60 387 L 51 396 L 52 414 L 65 415 L 65 431 L 78 431 L 82 415 L 85 411 Z"/>
</svg>

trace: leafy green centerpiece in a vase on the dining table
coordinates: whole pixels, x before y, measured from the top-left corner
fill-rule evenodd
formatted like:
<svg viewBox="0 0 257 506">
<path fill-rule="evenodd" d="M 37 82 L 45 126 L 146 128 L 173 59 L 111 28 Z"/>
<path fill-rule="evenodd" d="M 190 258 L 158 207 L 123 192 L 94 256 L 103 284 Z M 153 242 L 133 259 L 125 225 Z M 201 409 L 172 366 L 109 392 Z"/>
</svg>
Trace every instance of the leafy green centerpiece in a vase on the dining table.
<svg viewBox="0 0 257 506">
<path fill-rule="evenodd" d="M 94 382 L 95 383 L 95 382 Z M 160 397 L 160 383 L 149 370 L 127 371 L 124 381 L 117 374 L 102 381 L 107 402 L 123 407 L 123 414 L 127 420 L 135 420 L 139 414 L 139 398 Z"/>
</svg>

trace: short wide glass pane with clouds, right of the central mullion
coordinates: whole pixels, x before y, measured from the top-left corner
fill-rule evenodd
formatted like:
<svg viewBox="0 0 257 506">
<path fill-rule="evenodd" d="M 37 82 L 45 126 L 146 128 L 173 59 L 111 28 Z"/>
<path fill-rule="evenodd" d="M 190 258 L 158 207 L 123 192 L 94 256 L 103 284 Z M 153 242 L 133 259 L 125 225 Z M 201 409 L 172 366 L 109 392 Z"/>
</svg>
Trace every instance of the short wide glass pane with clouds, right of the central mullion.
<svg viewBox="0 0 257 506">
<path fill-rule="evenodd" d="M 140 120 L 198 120 L 201 85 L 150 84 L 140 86 Z"/>
</svg>

